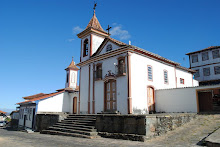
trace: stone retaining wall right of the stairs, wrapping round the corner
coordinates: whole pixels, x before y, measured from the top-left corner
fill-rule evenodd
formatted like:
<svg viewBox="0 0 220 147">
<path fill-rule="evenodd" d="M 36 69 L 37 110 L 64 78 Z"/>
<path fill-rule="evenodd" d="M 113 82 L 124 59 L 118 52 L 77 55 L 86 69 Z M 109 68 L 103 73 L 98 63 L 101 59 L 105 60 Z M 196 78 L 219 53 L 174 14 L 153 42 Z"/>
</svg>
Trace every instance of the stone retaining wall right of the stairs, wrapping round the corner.
<svg viewBox="0 0 220 147">
<path fill-rule="evenodd" d="M 196 114 L 97 115 L 96 117 L 96 129 L 101 136 L 144 141 L 174 130 L 195 118 Z"/>
</svg>

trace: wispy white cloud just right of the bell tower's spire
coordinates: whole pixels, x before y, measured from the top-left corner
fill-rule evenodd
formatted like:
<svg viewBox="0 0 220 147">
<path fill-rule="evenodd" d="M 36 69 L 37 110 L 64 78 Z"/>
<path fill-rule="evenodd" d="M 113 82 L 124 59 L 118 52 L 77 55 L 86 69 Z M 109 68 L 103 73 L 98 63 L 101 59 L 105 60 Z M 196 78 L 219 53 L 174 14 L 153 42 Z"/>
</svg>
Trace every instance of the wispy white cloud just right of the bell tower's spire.
<svg viewBox="0 0 220 147">
<path fill-rule="evenodd" d="M 112 36 L 119 37 L 120 40 L 127 40 L 131 37 L 127 30 L 123 30 L 121 25 L 113 23 L 113 28 L 110 30 Z"/>
</svg>

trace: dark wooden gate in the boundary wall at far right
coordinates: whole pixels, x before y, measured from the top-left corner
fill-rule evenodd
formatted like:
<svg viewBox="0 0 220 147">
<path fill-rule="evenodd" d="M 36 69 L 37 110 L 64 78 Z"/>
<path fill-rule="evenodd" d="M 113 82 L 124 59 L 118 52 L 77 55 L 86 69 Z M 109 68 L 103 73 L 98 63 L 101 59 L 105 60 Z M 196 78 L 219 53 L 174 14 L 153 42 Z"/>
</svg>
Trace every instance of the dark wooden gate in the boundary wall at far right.
<svg viewBox="0 0 220 147">
<path fill-rule="evenodd" d="M 212 93 L 198 92 L 199 96 L 199 111 L 212 111 Z"/>
</svg>

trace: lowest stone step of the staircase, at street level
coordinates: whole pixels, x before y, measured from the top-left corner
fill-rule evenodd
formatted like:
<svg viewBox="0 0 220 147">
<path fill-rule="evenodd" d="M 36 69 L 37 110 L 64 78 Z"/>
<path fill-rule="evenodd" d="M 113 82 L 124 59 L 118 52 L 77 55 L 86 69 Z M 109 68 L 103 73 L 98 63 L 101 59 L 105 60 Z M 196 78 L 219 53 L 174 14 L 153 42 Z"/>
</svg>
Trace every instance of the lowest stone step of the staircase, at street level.
<svg viewBox="0 0 220 147">
<path fill-rule="evenodd" d="M 72 136 L 72 137 L 81 137 L 81 138 L 97 138 L 98 136 L 88 136 L 88 135 L 83 135 L 83 134 L 77 134 L 77 133 L 67 133 L 67 132 L 62 132 L 62 131 L 54 131 L 54 130 L 43 130 L 41 132 L 42 134 L 51 134 L 51 135 L 64 135 L 64 136 Z"/>
</svg>

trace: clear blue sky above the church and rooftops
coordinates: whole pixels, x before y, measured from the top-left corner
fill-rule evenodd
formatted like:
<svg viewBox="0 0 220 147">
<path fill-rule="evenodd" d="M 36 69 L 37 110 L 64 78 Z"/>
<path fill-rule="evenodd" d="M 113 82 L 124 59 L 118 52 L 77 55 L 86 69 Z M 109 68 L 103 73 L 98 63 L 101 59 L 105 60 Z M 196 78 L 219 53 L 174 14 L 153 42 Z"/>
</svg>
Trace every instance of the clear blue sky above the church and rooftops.
<svg viewBox="0 0 220 147">
<path fill-rule="evenodd" d="M 97 0 L 111 37 L 189 67 L 185 53 L 220 45 L 219 0 Z M 65 86 L 93 0 L 0 0 L 0 109 Z M 185 59 L 185 60 L 184 60 Z"/>
</svg>

